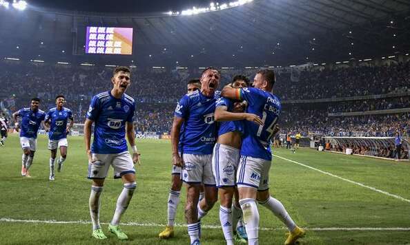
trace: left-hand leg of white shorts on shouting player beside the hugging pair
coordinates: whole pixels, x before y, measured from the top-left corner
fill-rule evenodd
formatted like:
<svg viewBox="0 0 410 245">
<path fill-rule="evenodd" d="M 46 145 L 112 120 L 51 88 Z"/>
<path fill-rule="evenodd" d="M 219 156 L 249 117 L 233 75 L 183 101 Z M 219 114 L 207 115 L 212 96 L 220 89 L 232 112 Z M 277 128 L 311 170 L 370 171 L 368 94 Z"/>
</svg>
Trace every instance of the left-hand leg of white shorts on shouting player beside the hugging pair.
<svg viewBox="0 0 410 245">
<path fill-rule="evenodd" d="M 202 183 L 203 167 L 201 156 L 204 155 L 182 154 L 182 158 L 185 164 L 184 168 L 182 169 L 182 180 L 189 185 L 196 186 L 196 184 Z"/>
</svg>

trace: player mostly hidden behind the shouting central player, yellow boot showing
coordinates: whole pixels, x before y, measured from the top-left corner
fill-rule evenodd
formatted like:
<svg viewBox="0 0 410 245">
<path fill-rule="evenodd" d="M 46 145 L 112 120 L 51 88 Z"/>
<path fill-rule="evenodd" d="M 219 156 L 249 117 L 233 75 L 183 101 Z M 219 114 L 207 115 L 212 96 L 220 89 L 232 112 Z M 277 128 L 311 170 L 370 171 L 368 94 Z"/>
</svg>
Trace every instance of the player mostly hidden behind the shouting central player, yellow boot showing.
<svg viewBox="0 0 410 245">
<path fill-rule="evenodd" d="M 198 89 L 201 88 L 201 82 L 199 79 L 191 79 L 188 81 L 187 85 L 187 94 L 191 94 Z M 182 126 L 182 131 L 184 130 L 184 126 Z M 181 145 L 179 145 L 179 151 Z M 182 188 L 182 180 L 181 180 L 181 167 L 177 167 L 173 165 L 173 171 L 171 173 L 171 188 L 169 190 L 168 195 L 168 222 L 167 225 L 161 233 L 159 233 L 159 238 L 169 238 L 174 236 L 174 222 L 175 222 L 175 215 L 177 213 L 177 206 L 179 204 L 179 195 L 181 194 Z M 200 198 L 202 199 L 202 198 Z"/>
</svg>

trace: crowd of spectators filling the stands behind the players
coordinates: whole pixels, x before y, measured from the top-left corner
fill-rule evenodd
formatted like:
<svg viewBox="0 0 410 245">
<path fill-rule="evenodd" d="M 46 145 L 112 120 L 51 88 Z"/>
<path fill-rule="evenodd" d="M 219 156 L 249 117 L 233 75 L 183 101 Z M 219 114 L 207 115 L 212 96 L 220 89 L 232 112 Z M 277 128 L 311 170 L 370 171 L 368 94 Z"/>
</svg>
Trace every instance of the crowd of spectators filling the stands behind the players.
<svg viewBox="0 0 410 245">
<path fill-rule="evenodd" d="M 1 109 L 15 111 L 39 97 L 42 109 L 55 106 L 55 96 L 64 94 L 76 122 L 84 122 L 90 99 L 110 89 L 112 67 L 46 65 L 1 61 Z M 137 102 L 137 131 L 168 132 L 177 100 L 186 93 L 186 82 L 199 77 L 200 70 L 133 69 L 128 94 Z M 255 70 L 222 70 L 222 85 L 236 74 L 252 80 Z M 274 93 L 282 100 L 340 98 L 348 96 L 410 92 L 410 65 L 349 67 L 335 70 L 306 70 L 291 74 L 277 72 Z M 220 85 L 220 87 L 222 87 Z M 372 111 L 410 107 L 409 96 L 349 100 L 345 102 L 283 104 L 280 126 L 329 136 L 392 136 L 395 131 L 410 134 L 410 114 L 329 116 L 346 111 Z M 9 114 L 10 114 L 9 113 Z"/>
</svg>

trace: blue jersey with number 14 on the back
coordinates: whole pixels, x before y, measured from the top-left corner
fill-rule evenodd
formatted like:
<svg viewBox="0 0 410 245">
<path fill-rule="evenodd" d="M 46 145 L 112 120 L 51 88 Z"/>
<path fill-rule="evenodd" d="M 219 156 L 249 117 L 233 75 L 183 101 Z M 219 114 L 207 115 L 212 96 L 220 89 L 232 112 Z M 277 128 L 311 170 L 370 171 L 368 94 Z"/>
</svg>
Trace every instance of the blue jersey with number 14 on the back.
<svg viewBox="0 0 410 245">
<path fill-rule="evenodd" d="M 246 112 L 256 114 L 264 122 L 260 126 L 255 122 L 244 121 L 241 155 L 272 160 L 271 138 L 280 115 L 280 100 L 274 94 L 253 87 L 240 89 L 240 96 L 248 102 Z"/>
</svg>

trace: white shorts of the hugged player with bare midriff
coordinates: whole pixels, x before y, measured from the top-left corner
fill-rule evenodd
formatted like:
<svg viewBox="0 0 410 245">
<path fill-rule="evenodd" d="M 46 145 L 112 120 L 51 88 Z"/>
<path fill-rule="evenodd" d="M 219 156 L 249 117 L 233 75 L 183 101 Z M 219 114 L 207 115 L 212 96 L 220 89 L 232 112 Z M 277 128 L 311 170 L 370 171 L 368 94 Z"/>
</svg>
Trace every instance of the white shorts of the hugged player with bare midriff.
<svg viewBox="0 0 410 245">
<path fill-rule="evenodd" d="M 235 187 L 235 173 L 240 160 L 240 150 L 216 144 L 212 167 L 217 187 Z"/>
</svg>

